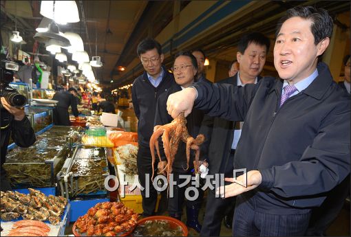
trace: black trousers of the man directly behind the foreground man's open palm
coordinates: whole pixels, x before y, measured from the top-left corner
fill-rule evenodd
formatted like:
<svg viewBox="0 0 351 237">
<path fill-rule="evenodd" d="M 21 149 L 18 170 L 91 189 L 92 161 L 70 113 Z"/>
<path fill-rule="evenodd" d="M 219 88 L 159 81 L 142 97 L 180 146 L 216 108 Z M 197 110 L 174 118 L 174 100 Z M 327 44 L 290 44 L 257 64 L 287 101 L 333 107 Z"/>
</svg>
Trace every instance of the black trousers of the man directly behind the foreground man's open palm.
<svg viewBox="0 0 351 237">
<path fill-rule="evenodd" d="M 224 177 L 233 177 L 234 150 L 229 156 L 228 162 L 221 164 L 220 173 Z M 209 167 L 211 170 L 211 166 Z M 235 207 L 235 196 L 221 199 L 215 197 L 215 190 L 209 190 L 207 194 L 206 210 L 200 236 L 220 236 L 221 224 L 224 216 L 233 213 Z"/>
</svg>

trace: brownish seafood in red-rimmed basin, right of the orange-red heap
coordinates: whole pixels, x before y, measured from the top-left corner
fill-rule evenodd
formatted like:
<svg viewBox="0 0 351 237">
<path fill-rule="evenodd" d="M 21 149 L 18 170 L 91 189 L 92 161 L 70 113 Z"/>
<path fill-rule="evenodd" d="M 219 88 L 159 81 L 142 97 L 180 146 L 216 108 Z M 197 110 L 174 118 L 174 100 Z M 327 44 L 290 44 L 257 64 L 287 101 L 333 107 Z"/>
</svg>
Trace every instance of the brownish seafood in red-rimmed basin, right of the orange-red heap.
<svg viewBox="0 0 351 237">
<path fill-rule="evenodd" d="M 183 236 L 183 229 L 166 220 L 148 220 L 138 225 L 132 236 Z"/>
</svg>

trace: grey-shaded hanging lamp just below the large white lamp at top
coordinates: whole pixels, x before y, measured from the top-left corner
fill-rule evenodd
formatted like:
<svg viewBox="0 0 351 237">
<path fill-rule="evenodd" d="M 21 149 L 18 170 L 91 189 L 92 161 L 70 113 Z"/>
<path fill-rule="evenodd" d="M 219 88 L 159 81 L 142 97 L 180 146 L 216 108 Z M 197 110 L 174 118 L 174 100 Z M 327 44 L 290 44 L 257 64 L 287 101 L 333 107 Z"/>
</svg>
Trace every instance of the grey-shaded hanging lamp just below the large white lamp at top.
<svg viewBox="0 0 351 237">
<path fill-rule="evenodd" d="M 62 36 L 60 34 L 58 30 L 58 26 L 54 21 L 52 21 L 49 24 L 49 30 L 47 30 L 47 32 L 37 32 L 33 38 L 39 43 L 47 44 L 48 41 L 52 40 L 52 41 L 55 41 L 54 43 L 55 45 L 59 45 L 61 47 L 67 47 L 71 45 L 70 41 L 67 38 L 65 38 L 65 36 Z M 53 43 L 49 43 L 47 45 L 50 45 L 50 44 L 53 44 Z"/>
</svg>

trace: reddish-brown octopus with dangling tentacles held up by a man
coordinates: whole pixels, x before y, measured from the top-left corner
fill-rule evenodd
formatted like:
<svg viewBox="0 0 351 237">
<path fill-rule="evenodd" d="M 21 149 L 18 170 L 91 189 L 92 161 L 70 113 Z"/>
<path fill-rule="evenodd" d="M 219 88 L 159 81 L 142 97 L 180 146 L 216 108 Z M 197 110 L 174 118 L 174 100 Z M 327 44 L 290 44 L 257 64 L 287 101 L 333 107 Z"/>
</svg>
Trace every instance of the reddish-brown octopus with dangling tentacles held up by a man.
<svg viewBox="0 0 351 237">
<path fill-rule="evenodd" d="M 167 171 L 167 180 L 169 180 L 169 174 L 172 172 L 173 161 L 175 154 L 178 151 L 178 144 L 180 141 L 187 144 L 187 170 L 189 168 L 190 160 L 190 150 L 195 150 L 195 174 L 198 173 L 198 162 L 200 157 L 200 148 L 199 146 L 204 142 L 204 135 L 199 134 L 195 139 L 189 135 L 187 129 L 187 120 L 184 117 L 184 113 L 180 113 L 169 124 L 156 125 L 153 129 L 153 135 L 150 138 L 150 151 L 152 157 L 152 177 L 154 175 L 154 163 L 156 161 L 155 157 L 155 148 L 158 154 L 158 158 L 161 161 L 160 148 L 158 146 L 158 138 L 162 135 L 162 143 L 164 148 L 164 155 L 167 158 L 167 166 L 164 170 Z M 164 170 L 160 170 L 162 173 Z"/>
</svg>

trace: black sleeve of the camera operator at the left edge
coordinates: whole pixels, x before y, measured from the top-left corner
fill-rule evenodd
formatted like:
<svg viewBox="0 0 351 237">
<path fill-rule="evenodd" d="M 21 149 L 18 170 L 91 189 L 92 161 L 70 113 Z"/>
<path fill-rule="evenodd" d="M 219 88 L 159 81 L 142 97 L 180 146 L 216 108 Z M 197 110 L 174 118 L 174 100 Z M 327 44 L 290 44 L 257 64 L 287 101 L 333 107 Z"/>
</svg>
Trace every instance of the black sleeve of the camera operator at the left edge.
<svg viewBox="0 0 351 237">
<path fill-rule="evenodd" d="M 21 121 L 13 120 L 11 129 L 12 139 L 17 146 L 27 148 L 36 141 L 35 133 L 28 117 L 24 117 Z"/>
</svg>

